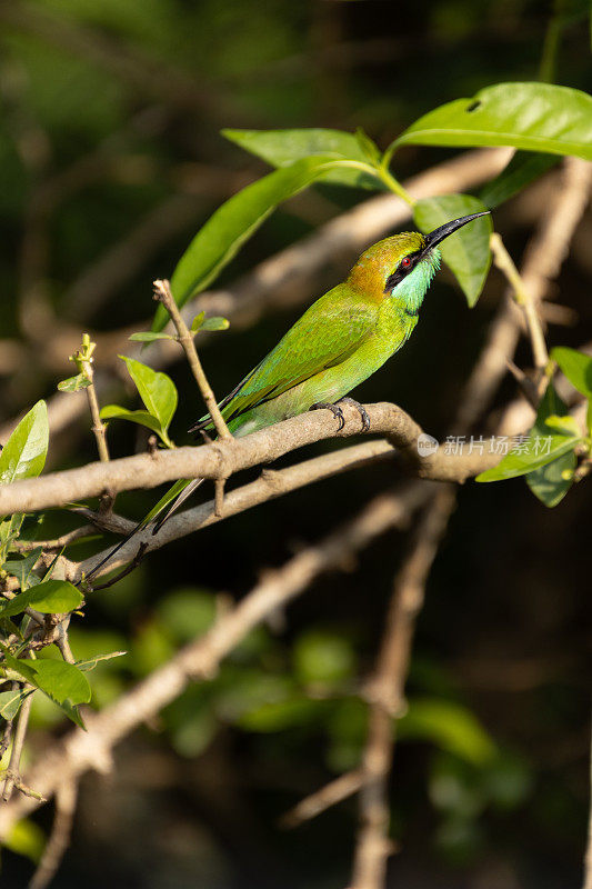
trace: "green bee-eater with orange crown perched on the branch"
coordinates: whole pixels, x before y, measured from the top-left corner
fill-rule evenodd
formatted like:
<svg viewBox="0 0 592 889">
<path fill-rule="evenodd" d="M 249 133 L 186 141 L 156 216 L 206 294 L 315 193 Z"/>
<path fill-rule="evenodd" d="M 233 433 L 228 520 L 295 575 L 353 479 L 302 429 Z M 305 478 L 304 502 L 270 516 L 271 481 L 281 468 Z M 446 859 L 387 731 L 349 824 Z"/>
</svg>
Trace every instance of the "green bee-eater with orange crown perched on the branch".
<svg viewBox="0 0 592 889">
<path fill-rule="evenodd" d="M 370 247 L 348 279 L 313 302 L 261 363 L 222 399 L 220 408 L 230 431 L 245 436 L 317 407 L 330 408 L 341 428 L 343 416 L 335 402 L 382 367 L 413 332 L 423 298 L 440 268 L 438 244 L 485 214 L 454 219 L 429 234 L 401 232 Z M 363 408 L 350 403 L 359 408 L 362 427 L 368 429 Z M 189 431 L 212 429 L 208 414 Z M 202 481 L 178 481 L 91 575 L 160 516 L 155 533 Z"/>
</svg>

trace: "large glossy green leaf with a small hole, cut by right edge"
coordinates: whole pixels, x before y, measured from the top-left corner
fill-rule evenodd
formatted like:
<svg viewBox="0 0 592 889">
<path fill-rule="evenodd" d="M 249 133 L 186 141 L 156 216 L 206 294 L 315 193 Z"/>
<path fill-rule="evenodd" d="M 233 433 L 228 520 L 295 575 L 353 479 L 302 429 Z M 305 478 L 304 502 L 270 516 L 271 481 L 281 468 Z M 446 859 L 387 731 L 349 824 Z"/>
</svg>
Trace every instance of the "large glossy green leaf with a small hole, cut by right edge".
<svg viewBox="0 0 592 889">
<path fill-rule="evenodd" d="M 592 160 L 592 98 L 551 83 L 498 83 L 412 123 L 394 147 L 513 146 Z"/>
</svg>

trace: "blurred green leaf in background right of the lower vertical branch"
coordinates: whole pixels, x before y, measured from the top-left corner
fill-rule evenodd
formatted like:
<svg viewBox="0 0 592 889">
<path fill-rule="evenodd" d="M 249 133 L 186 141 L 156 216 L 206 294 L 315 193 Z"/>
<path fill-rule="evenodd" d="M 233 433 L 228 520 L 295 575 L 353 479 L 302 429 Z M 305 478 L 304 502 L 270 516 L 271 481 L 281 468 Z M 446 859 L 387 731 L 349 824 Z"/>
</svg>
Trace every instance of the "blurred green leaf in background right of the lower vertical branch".
<svg viewBox="0 0 592 889">
<path fill-rule="evenodd" d="M 496 748 L 475 717 L 460 703 L 422 698 L 398 720 L 401 738 L 428 740 L 476 766 L 492 760 Z"/>
</svg>

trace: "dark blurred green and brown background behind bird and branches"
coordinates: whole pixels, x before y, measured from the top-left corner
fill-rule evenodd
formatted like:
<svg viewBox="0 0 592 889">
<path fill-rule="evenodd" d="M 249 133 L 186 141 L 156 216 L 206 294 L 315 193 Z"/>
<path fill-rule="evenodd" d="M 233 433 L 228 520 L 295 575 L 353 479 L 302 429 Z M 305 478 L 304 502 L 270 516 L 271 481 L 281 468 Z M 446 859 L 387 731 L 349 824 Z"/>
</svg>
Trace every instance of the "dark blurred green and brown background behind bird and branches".
<svg viewBox="0 0 592 889">
<path fill-rule="evenodd" d="M 573 10 L 554 47 L 553 4 L 520 0 L 0 3 L 2 421 L 70 376 L 78 331 L 96 334 L 97 367 L 103 361 L 107 372 L 107 334 L 146 328 L 152 279 L 169 276 L 215 207 L 264 171 L 221 128 L 363 127 L 385 148 L 442 102 L 538 79 L 542 60 L 549 73 L 555 58 L 555 82 L 584 89 L 589 33 L 581 8 Z M 451 154 L 407 148 L 397 174 Z M 558 181 L 550 171 L 496 212 L 516 261 Z M 215 287 L 367 197 L 330 187 L 300 196 Z M 589 216 L 558 281 L 574 313 L 571 326 L 551 328 L 551 344 L 591 338 L 591 229 Z M 329 268 L 301 303 L 345 271 Z M 444 272 L 413 340 L 358 390 L 360 400 L 395 401 L 444 434 L 502 293 L 492 272 L 469 311 Z M 232 388 L 300 311 L 271 306 L 257 323 L 211 338 L 203 360 L 215 391 Z M 522 346 L 518 363 L 529 361 Z M 168 372 L 180 391 L 172 436 L 185 442 L 200 406 L 184 363 Z M 136 404 L 121 370 L 111 371 L 109 387 L 110 397 Z M 513 392 L 508 380 L 499 403 Z M 131 424 L 113 422 L 109 439 L 113 456 L 146 447 Z M 87 418 L 50 443 L 52 468 L 93 459 Z M 93 673 L 94 703 L 113 700 L 202 631 L 220 591 L 241 597 L 261 569 L 282 565 L 394 480 L 385 465 L 303 489 L 152 555 L 97 593 L 72 630 L 74 653 L 130 653 Z M 140 517 L 153 500 L 154 492 L 122 496 L 118 509 Z M 56 513 L 46 527 L 51 536 L 72 525 Z M 408 689 L 411 710 L 414 701 L 440 707 L 428 728 L 409 720 L 405 730 L 403 720 L 397 747 L 393 887 L 579 885 L 589 797 L 589 548 L 585 483 L 554 510 L 520 479 L 460 492 Z M 111 777 L 84 778 L 56 885 L 343 889 L 355 800 L 292 831 L 278 819 L 359 762 L 364 710 L 355 691 L 372 668 L 403 551 L 404 537 L 388 533 L 348 572 L 322 577 L 252 633 L 213 682 L 192 687 L 127 739 Z M 31 755 L 67 729 L 49 702 L 39 701 L 33 718 Z M 42 810 L 23 828 L 24 851 L 38 851 L 50 815 Z M 32 869 L 12 852 L 2 865 L 7 886 L 22 886 Z"/>
</svg>

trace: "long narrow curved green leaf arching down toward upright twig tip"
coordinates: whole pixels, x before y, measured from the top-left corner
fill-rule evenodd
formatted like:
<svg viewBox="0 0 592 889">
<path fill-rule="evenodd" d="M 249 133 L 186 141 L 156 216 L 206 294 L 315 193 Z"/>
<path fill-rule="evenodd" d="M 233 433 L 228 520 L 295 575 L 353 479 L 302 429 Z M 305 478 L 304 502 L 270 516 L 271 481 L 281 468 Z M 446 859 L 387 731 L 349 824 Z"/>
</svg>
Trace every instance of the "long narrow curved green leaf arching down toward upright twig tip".
<svg viewBox="0 0 592 889">
<path fill-rule="evenodd" d="M 325 179 L 329 172 L 343 169 L 350 169 L 349 163 L 330 156 L 303 158 L 258 179 L 225 201 L 195 234 L 174 269 L 171 289 L 177 303 L 184 306 L 208 287 L 279 203 Z M 152 329 L 162 330 L 168 317 L 159 306 Z"/>
</svg>

